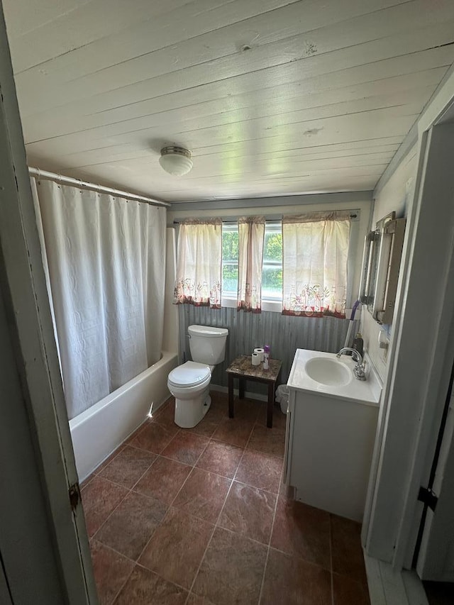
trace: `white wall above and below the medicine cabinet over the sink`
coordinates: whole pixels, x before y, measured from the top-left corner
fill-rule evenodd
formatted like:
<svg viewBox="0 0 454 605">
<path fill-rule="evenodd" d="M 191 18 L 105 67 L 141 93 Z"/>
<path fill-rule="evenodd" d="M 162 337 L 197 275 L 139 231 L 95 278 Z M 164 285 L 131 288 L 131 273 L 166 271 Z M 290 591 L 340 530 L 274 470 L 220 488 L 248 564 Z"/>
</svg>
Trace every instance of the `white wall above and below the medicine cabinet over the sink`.
<svg viewBox="0 0 454 605">
<path fill-rule="evenodd" d="M 409 196 L 411 195 L 417 170 L 417 147 L 414 145 L 393 172 L 389 180 L 375 192 L 375 206 L 372 215 L 372 228 L 380 218 L 395 211 L 397 218 L 406 216 Z M 361 333 L 364 345 L 375 365 L 380 378 L 384 380 L 387 369 L 387 349 L 379 348 L 378 336 L 383 331 L 388 337 L 392 326 L 380 326 L 365 307 L 361 313 Z"/>
</svg>

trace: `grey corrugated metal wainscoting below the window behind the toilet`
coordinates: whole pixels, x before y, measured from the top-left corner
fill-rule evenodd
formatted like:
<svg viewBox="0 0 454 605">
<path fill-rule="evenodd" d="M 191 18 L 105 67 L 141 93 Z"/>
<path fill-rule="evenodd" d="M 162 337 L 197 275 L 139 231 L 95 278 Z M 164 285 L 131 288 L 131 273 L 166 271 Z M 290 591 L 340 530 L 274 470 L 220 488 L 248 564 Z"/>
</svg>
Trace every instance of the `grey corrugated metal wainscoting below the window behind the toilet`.
<svg viewBox="0 0 454 605">
<path fill-rule="evenodd" d="M 227 387 L 226 367 L 238 355 L 249 355 L 255 347 L 270 345 L 271 357 L 282 360 L 279 382 L 285 383 L 289 377 L 292 361 L 297 349 L 310 349 L 336 353 L 343 347 L 348 329 L 347 319 L 333 317 L 290 317 L 271 311 L 245 313 L 236 309 L 211 309 L 206 306 L 179 306 L 180 346 L 185 359 L 191 359 L 189 342 L 186 338 L 187 326 L 193 323 L 201 326 L 228 328 L 226 359 L 218 365 L 211 382 Z M 355 330 L 359 321 L 355 320 Z M 265 393 L 264 385 L 248 383 L 248 391 Z"/>
</svg>

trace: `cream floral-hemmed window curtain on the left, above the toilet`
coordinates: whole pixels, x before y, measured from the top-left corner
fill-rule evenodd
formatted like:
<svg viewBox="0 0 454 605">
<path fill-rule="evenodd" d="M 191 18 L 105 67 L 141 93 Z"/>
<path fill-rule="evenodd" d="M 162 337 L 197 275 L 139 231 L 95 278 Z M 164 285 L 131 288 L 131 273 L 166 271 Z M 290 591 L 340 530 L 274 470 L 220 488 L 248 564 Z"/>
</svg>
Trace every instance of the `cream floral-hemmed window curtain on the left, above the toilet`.
<svg viewBox="0 0 454 605">
<path fill-rule="evenodd" d="M 222 221 L 179 226 L 174 304 L 221 309 Z"/>
</svg>

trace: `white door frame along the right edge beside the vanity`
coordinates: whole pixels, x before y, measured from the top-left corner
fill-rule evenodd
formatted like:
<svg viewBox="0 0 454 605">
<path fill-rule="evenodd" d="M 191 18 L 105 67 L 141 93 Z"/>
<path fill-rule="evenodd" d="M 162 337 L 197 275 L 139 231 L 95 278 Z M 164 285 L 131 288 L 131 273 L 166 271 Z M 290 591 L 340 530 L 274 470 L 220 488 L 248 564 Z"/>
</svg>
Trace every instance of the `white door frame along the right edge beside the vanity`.
<svg viewBox="0 0 454 605">
<path fill-rule="evenodd" d="M 454 309 L 454 177 L 450 158 L 454 72 L 451 69 L 417 123 L 419 162 L 409 204 L 397 309 L 382 392 L 382 435 L 365 511 L 368 555 L 411 567 L 422 504 L 454 358 L 448 338 Z M 449 151 L 450 150 L 450 151 Z M 452 155 L 450 156 L 453 157 Z M 390 170 L 394 170 L 390 167 Z M 389 175 L 384 174 L 384 182 Z M 433 234 L 436 233 L 436 237 Z M 432 246 L 428 243 L 433 242 Z M 422 314 L 418 288 L 441 293 Z"/>
</svg>

